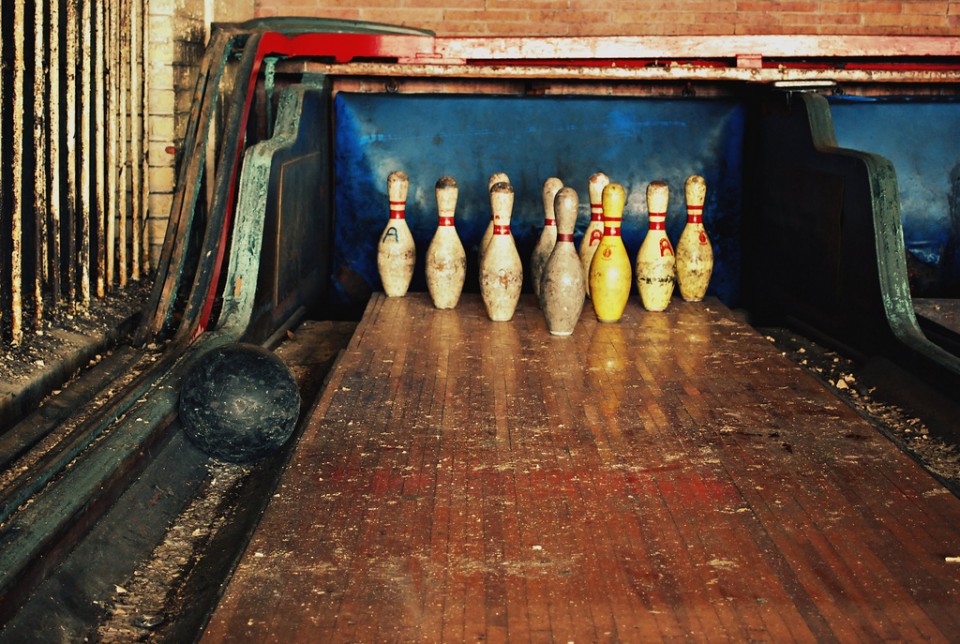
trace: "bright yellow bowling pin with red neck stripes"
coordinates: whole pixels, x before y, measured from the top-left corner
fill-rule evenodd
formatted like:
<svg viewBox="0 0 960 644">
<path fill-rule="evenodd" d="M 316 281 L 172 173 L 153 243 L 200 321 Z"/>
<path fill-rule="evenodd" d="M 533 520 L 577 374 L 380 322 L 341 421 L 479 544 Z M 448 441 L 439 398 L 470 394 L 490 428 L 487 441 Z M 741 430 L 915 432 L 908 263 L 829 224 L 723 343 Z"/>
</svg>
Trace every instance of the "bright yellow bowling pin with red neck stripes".
<svg viewBox="0 0 960 644">
<path fill-rule="evenodd" d="M 590 301 L 601 322 L 618 322 L 630 297 L 630 258 L 620 237 L 626 193 L 619 183 L 603 189 L 603 237 L 590 263 Z"/>
</svg>

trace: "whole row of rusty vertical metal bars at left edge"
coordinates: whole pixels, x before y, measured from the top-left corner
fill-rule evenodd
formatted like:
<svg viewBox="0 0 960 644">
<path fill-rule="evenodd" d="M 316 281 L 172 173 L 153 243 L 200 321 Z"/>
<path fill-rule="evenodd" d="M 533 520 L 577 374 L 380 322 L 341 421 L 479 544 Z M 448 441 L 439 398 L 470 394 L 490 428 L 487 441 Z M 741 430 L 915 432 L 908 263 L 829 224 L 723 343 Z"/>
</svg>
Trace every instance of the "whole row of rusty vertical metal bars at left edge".
<svg viewBox="0 0 960 644">
<path fill-rule="evenodd" d="M 72 314 L 142 276 L 146 101 L 133 83 L 146 76 L 128 55 L 132 32 L 144 46 L 142 3 L 135 15 L 127 0 L 11 4 L 0 17 L 4 343 L 29 347 L 64 305 Z"/>
</svg>

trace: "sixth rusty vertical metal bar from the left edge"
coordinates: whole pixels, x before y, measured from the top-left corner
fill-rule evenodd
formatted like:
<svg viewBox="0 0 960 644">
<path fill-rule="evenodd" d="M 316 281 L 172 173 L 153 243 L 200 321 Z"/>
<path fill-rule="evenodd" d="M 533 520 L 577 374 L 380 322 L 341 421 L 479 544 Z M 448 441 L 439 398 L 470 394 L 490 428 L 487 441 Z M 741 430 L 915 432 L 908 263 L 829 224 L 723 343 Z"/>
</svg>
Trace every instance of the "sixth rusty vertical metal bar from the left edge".
<svg viewBox="0 0 960 644">
<path fill-rule="evenodd" d="M 106 114 L 103 101 L 103 94 L 106 91 L 107 83 L 104 77 L 106 73 L 106 34 L 104 26 L 106 23 L 104 2 L 95 3 L 94 8 L 94 45 L 93 52 L 93 117 L 94 131 L 96 132 L 95 141 L 95 163 L 94 163 L 94 199 L 96 201 L 96 221 L 97 221 L 97 297 L 104 297 L 107 294 L 106 287 L 106 143 L 104 136 L 104 127 L 106 126 Z"/>
</svg>

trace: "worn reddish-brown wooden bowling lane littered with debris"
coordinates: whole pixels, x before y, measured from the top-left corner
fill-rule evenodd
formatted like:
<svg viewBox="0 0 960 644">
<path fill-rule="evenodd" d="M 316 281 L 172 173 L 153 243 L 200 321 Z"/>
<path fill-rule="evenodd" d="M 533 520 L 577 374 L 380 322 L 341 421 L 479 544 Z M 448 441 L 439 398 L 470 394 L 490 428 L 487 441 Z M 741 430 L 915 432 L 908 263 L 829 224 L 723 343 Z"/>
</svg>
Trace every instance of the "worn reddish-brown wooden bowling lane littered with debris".
<svg viewBox="0 0 960 644">
<path fill-rule="evenodd" d="M 207 642 L 960 632 L 960 500 L 716 301 L 377 296 L 307 423 Z"/>
</svg>

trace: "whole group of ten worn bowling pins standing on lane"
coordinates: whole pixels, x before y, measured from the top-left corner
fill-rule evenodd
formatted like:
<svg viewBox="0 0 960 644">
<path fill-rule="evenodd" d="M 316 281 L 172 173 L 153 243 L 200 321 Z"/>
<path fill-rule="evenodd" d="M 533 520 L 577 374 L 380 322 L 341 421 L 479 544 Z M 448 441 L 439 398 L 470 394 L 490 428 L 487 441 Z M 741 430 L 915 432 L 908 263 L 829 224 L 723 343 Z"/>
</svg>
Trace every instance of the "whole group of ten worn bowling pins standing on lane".
<svg viewBox="0 0 960 644">
<path fill-rule="evenodd" d="M 386 294 L 401 296 L 409 287 L 415 258 L 413 237 L 404 220 L 408 180 L 404 173 L 394 172 L 387 185 L 391 215 L 381 235 L 377 264 Z M 510 234 L 513 188 L 503 173 L 492 175 L 488 188 L 492 216 L 480 243 L 480 290 L 488 316 L 506 321 L 513 317 L 523 283 L 520 256 Z M 597 173 L 590 178 L 589 193 L 591 221 L 577 251 L 573 246 L 579 205 L 576 191 L 564 188 L 553 177 L 543 186 L 545 225 L 531 258 L 532 283 L 548 328 L 555 335 L 572 332 L 583 307 L 583 295 L 591 294 L 592 286 L 597 290 L 591 300 L 601 321 L 619 320 L 630 292 L 630 263 L 620 240 L 624 190 Z M 636 275 L 648 310 L 666 308 L 675 278 L 681 295 L 691 301 L 701 299 L 709 283 L 713 257 L 702 224 L 706 194 L 703 178 L 690 177 L 686 193 L 687 226 L 674 261 L 664 230 L 668 188 L 664 182 L 655 181 L 647 190 L 650 231 L 637 256 Z M 436 195 L 439 222 L 427 251 L 427 286 L 437 308 L 453 308 L 466 274 L 466 254 L 453 226 L 456 181 L 441 178 Z M 600 259 L 595 260 L 598 251 Z M 573 285 L 579 286 L 579 295 Z"/>
</svg>

